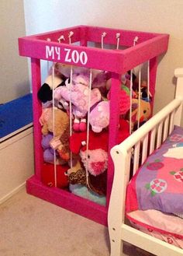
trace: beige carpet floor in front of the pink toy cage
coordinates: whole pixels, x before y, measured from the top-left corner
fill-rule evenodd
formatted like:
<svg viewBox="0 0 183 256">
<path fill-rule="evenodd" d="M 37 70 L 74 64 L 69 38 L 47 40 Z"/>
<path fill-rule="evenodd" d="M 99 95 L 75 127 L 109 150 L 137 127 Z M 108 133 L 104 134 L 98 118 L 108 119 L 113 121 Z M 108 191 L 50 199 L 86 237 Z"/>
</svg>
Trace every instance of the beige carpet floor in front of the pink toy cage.
<svg viewBox="0 0 183 256">
<path fill-rule="evenodd" d="M 108 230 L 22 189 L 0 205 L 0 256 L 109 256 Z"/>
</svg>

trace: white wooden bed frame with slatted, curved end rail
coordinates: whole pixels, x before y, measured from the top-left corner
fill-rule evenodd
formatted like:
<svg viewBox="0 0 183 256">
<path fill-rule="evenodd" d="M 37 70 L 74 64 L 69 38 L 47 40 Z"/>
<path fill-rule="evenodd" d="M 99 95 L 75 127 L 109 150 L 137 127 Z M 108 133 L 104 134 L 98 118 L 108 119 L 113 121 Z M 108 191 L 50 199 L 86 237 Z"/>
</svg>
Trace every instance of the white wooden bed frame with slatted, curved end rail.
<svg viewBox="0 0 183 256">
<path fill-rule="evenodd" d="M 177 77 L 174 100 L 155 114 L 154 117 L 150 118 L 146 124 L 143 124 L 142 127 L 136 130 L 124 142 L 114 146 L 111 150 L 111 156 L 115 166 L 108 213 L 111 256 L 123 254 L 123 242 L 133 244 L 155 255 L 183 255 L 183 250 L 178 247 L 151 237 L 125 223 L 126 184 L 129 182 L 129 163 L 132 152 L 133 174 L 135 174 L 136 170 L 147 159 L 147 156 L 154 149 L 161 146 L 162 142 L 172 132 L 174 124 L 181 124 L 183 68 L 176 69 L 174 75 Z M 141 160 L 139 158 L 140 149 L 142 150 Z"/>
</svg>

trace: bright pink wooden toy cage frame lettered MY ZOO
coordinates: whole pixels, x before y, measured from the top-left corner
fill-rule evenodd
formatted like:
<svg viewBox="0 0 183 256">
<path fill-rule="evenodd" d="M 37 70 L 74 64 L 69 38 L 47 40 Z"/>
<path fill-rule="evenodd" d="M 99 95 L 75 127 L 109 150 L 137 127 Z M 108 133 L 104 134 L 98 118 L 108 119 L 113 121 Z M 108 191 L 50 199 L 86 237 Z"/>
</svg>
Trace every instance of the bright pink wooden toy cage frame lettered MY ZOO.
<svg viewBox="0 0 183 256">
<path fill-rule="evenodd" d="M 73 32 L 72 44 L 70 44 L 71 42 L 68 37 L 71 31 Z M 104 43 L 108 45 L 116 45 L 116 34 L 120 34 L 119 50 L 101 49 L 90 46 L 91 43 L 100 44 L 102 33 L 104 32 L 106 33 Z M 63 36 L 65 40 L 58 42 L 60 36 Z M 138 42 L 136 45 L 133 45 L 135 37 L 138 37 Z M 117 30 L 97 26 L 74 26 L 63 30 L 19 38 L 19 54 L 31 58 L 33 85 L 35 174 L 26 182 L 27 192 L 29 194 L 43 198 L 48 202 L 85 216 L 97 223 L 107 225 L 107 212 L 113 180 L 113 163 L 110 154 L 107 170 L 105 206 L 78 197 L 64 189 L 49 188 L 40 181 L 41 168 L 43 166 L 42 135 L 39 122 L 42 105 L 37 100 L 37 92 L 41 86 L 40 60 L 95 68 L 112 73 L 109 120 L 110 152 L 110 149 L 116 145 L 118 136 L 120 75 L 149 61 L 150 92 L 154 99 L 158 57 L 167 51 L 167 44 L 167 34 Z"/>
</svg>

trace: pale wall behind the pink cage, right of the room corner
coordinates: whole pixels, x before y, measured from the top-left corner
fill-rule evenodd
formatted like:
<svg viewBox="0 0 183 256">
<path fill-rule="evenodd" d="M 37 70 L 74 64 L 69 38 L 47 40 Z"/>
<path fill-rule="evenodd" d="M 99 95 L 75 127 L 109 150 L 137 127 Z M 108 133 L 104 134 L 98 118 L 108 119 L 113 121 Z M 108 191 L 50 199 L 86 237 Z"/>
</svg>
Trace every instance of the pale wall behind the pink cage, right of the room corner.
<svg viewBox="0 0 183 256">
<path fill-rule="evenodd" d="M 80 24 L 169 33 L 157 72 L 155 112 L 174 97 L 174 68 L 183 67 L 182 0 L 24 0 L 26 33 Z"/>
</svg>

